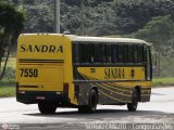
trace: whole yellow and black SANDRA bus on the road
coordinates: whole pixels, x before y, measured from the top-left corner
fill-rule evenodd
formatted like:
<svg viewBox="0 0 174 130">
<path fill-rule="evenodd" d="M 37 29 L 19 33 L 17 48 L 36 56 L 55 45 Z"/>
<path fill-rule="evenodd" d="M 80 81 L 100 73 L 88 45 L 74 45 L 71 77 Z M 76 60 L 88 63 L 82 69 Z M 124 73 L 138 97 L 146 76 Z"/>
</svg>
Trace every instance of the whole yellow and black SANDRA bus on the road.
<svg viewBox="0 0 174 130">
<path fill-rule="evenodd" d="M 38 104 L 42 114 L 57 107 L 95 113 L 97 104 L 127 105 L 151 94 L 151 51 L 144 40 L 23 34 L 16 57 L 16 100 Z"/>
</svg>

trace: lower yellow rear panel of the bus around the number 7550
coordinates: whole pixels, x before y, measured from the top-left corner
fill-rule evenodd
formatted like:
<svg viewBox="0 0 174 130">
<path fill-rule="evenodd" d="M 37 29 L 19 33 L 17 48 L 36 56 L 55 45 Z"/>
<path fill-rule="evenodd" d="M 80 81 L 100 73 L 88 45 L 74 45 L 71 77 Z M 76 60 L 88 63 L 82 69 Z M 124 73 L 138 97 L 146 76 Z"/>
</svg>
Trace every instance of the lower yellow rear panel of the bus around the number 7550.
<svg viewBox="0 0 174 130">
<path fill-rule="evenodd" d="M 20 90 L 63 91 L 63 67 L 21 65 L 20 69 L 23 68 L 37 69 L 38 77 L 21 77 L 21 75 L 18 75 Z M 28 84 L 36 86 L 37 88 L 25 88 L 25 86 Z"/>
</svg>

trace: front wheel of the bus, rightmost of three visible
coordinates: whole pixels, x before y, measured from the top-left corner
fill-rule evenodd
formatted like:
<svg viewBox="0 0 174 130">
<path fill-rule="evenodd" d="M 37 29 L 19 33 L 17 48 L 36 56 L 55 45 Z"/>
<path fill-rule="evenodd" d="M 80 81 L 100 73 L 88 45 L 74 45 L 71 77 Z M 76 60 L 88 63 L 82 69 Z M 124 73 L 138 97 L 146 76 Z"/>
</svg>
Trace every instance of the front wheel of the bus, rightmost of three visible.
<svg viewBox="0 0 174 130">
<path fill-rule="evenodd" d="M 138 106 L 138 91 L 136 89 L 133 90 L 132 103 L 127 103 L 128 112 L 136 112 Z"/>
</svg>

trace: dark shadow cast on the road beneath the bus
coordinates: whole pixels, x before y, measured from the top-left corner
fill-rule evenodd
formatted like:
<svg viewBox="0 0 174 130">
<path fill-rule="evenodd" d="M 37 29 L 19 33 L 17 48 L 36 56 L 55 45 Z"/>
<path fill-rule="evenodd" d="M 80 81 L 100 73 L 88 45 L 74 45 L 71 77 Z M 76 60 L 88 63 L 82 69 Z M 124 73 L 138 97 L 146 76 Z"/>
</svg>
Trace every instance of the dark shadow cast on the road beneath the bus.
<svg viewBox="0 0 174 130">
<path fill-rule="evenodd" d="M 52 115 L 42 115 L 40 113 L 35 114 L 24 114 L 35 117 L 59 117 L 59 118 L 90 118 L 90 119 L 101 119 L 101 118 L 123 118 L 123 117 L 140 117 L 140 118 L 173 118 L 174 114 L 167 114 L 157 110 L 137 110 L 127 112 L 126 109 L 98 109 L 95 114 L 79 114 L 77 110 L 71 112 L 58 112 Z"/>
</svg>

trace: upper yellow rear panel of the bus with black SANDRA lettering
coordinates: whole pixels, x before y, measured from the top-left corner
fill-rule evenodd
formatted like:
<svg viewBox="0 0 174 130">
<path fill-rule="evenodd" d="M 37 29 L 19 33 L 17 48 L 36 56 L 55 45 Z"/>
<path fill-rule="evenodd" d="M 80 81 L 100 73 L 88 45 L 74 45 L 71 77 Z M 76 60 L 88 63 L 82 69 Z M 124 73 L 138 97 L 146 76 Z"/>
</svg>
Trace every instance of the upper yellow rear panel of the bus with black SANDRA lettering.
<svg viewBox="0 0 174 130">
<path fill-rule="evenodd" d="M 36 48 L 36 46 L 38 48 Z M 36 60 L 63 60 L 64 50 L 64 38 L 60 36 L 22 35 L 18 39 L 17 57 Z"/>
</svg>

